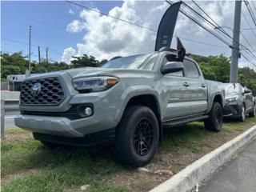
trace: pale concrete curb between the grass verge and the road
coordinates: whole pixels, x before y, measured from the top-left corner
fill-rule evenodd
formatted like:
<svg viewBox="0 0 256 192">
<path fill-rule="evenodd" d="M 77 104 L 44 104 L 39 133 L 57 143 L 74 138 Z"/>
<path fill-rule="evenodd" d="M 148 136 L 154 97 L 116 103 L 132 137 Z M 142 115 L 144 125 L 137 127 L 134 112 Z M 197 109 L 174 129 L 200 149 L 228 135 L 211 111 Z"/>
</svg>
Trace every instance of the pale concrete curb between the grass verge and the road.
<svg viewBox="0 0 256 192">
<path fill-rule="evenodd" d="M 219 166 L 222 166 L 227 162 L 231 156 L 242 146 L 245 146 L 256 136 L 256 126 L 246 130 L 243 134 L 232 139 L 230 142 L 226 142 L 224 145 L 213 150 L 209 154 L 199 158 L 196 162 L 193 162 L 190 166 L 178 174 L 175 174 L 172 178 L 163 182 L 159 186 L 156 186 L 150 192 L 188 192 L 191 191 L 198 182 L 202 182 L 210 174 L 214 173 Z"/>
</svg>

